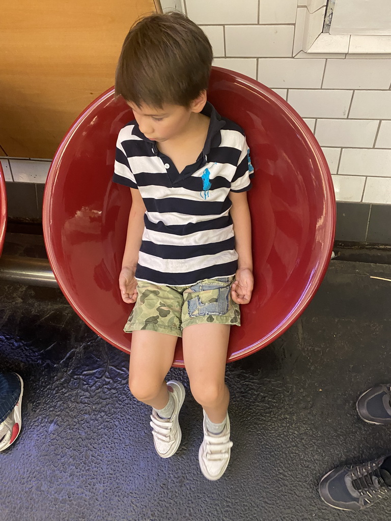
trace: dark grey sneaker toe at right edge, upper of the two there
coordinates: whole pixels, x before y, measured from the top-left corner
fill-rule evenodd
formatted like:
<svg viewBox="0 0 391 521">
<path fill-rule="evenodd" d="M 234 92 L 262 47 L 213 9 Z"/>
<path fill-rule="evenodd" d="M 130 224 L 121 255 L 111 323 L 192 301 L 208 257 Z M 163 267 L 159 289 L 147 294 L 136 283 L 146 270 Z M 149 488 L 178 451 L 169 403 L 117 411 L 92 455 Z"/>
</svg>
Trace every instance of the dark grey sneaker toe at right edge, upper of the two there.
<svg viewBox="0 0 391 521">
<path fill-rule="evenodd" d="M 366 423 L 391 425 L 391 383 L 382 383 L 362 393 L 356 408 Z"/>
</svg>

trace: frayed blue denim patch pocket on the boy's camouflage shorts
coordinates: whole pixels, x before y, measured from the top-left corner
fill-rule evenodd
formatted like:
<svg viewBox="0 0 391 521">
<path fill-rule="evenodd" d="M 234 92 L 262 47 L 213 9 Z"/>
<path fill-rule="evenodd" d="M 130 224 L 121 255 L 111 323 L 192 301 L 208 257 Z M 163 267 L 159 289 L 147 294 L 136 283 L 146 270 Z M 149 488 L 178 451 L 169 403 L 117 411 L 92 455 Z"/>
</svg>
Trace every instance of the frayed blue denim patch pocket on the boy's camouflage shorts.
<svg viewBox="0 0 391 521">
<path fill-rule="evenodd" d="M 222 286 L 220 283 L 195 284 L 191 291 L 198 295 L 187 301 L 189 317 L 202 317 L 207 315 L 225 315 L 229 308 L 230 286 Z"/>
</svg>

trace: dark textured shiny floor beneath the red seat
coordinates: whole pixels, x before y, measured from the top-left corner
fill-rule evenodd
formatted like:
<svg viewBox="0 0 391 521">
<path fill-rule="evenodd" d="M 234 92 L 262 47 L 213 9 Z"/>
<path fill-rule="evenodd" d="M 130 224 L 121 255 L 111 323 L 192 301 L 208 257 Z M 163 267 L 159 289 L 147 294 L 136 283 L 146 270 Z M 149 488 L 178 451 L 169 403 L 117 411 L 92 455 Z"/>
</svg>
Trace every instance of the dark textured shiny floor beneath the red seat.
<svg viewBox="0 0 391 521">
<path fill-rule="evenodd" d="M 0 454 L 5 521 L 389 521 L 317 493 L 337 465 L 391 453 L 391 428 L 363 423 L 357 397 L 391 381 L 391 266 L 332 261 L 302 317 L 227 366 L 227 472 L 198 466 L 201 408 L 188 393 L 175 456 L 153 450 L 149 408 L 127 388 L 127 355 L 97 338 L 59 290 L 0 284 L 0 367 L 25 381 L 22 432 Z M 188 379 L 183 369 L 170 378 Z"/>
</svg>

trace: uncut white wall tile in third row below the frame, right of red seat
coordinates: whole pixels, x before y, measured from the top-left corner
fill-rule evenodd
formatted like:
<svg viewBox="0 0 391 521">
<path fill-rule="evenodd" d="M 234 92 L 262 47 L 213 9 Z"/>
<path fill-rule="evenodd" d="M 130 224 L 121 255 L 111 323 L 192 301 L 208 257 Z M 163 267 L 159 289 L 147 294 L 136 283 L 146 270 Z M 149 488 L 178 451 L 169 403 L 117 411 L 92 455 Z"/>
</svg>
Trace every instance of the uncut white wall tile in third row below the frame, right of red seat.
<svg viewBox="0 0 391 521">
<path fill-rule="evenodd" d="M 318 119 L 315 137 L 321 146 L 371 147 L 378 121 L 361 119 Z"/>
</svg>

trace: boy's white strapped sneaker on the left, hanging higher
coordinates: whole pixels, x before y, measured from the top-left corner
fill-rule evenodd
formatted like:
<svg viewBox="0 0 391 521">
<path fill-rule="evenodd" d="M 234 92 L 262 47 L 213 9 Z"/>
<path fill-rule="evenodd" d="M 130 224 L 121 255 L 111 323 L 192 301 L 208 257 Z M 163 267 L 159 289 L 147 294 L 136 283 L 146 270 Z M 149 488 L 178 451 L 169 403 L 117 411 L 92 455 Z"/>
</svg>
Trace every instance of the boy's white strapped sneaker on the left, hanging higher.
<svg viewBox="0 0 391 521">
<path fill-rule="evenodd" d="M 185 388 L 176 380 L 167 382 L 167 386 L 173 390 L 174 412 L 169 420 L 162 420 L 152 409 L 152 421 L 150 422 L 155 449 L 161 457 L 170 457 L 175 454 L 182 439 L 178 415 L 185 400 Z"/>
</svg>

